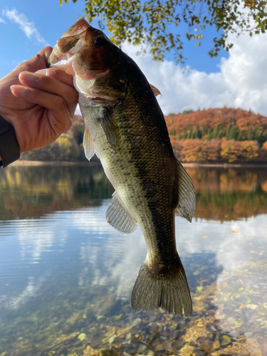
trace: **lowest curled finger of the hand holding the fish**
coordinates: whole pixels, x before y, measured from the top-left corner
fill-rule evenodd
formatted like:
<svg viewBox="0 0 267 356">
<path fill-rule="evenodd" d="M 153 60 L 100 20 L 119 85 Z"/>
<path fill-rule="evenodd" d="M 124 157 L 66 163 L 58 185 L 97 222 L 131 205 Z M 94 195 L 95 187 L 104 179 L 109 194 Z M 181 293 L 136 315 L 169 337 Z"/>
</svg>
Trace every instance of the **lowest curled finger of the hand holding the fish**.
<svg viewBox="0 0 267 356">
<path fill-rule="evenodd" d="M 77 103 L 68 106 L 66 100 L 61 98 L 61 96 L 46 93 L 36 88 L 23 87 L 22 85 L 12 85 L 11 91 L 16 97 L 23 98 L 23 100 L 29 103 L 51 110 L 57 121 L 55 124 L 57 127 L 53 126 L 53 129 L 58 130 L 57 132 L 59 130 L 66 132 L 70 129 Z"/>
</svg>

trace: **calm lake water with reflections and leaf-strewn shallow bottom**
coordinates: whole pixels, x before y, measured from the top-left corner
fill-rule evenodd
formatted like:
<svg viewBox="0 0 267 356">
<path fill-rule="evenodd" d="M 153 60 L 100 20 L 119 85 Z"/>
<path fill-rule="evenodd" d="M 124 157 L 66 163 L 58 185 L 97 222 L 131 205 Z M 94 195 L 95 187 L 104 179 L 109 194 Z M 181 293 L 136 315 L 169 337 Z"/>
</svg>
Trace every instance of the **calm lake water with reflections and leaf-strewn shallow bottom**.
<svg viewBox="0 0 267 356">
<path fill-rule="evenodd" d="M 136 313 L 147 247 L 105 221 L 98 165 L 0 171 L 0 355 L 267 355 L 267 170 L 187 169 L 176 216 L 193 314 Z"/>
</svg>

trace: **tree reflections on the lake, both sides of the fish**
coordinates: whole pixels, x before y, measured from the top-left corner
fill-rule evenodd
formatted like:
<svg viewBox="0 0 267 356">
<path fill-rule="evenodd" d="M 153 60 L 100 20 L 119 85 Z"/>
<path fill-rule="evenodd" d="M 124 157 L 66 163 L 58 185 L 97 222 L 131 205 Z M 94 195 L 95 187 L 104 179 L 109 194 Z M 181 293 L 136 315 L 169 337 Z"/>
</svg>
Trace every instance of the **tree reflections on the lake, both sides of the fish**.
<svg viewBox="0 0 267 356">
<path fill-rule="evenodd" d="M 267 212 L 266 169 L 187 169 L 197 192 L 195 217 L 219 221 Z M 98 206 L 114 189 L 100 164 L 8 167 L 0 172 L 0 219 Z"/>
</svg>

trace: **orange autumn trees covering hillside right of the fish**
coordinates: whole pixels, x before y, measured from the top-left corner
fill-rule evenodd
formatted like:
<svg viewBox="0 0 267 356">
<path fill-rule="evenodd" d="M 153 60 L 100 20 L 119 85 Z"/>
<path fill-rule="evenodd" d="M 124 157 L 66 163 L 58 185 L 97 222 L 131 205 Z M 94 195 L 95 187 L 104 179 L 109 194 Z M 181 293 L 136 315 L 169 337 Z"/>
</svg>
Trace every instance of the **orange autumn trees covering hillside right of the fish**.
<svg viewBox="0 0 267 356">
<path fill-rule="evenodd" d="M 241 109 L 209 109 L 165 117 L 182 162 L 267 162 L 267 117 Z"/>
</svg>

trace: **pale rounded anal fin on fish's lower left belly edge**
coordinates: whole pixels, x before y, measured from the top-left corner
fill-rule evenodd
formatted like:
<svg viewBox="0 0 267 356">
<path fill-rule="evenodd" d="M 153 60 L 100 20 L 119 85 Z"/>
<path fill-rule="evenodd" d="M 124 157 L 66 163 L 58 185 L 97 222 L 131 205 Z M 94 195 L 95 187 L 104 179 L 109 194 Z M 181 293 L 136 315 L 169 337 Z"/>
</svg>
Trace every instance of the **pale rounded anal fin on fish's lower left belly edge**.
<svg viewBox="0 0 267 356">
<path fill-rule="evenodd" d="M 119 201 L 116 192 L 112 194 L 105 219 L 108 221 L 108 224 L 122 234 L 131 234 L 137 229 L 137 222 L 130 216 L 125 206 L 122 205 L 122 202 Z"/>
</svg>

